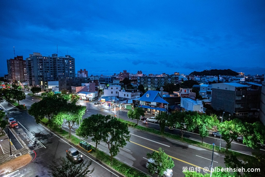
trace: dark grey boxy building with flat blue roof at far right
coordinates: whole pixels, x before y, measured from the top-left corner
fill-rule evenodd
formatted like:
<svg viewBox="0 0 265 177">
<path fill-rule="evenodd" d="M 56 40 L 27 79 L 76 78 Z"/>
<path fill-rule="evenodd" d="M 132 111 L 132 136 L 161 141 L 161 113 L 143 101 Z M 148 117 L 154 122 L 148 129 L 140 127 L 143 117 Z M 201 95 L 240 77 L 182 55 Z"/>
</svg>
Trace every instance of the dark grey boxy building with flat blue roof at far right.
<svg viewBox="0 0 265 177">
<path fill-rule="evenodd" d="M 238 117 L 258 117 L 261 90 L 238 83 L 212 84 L 212 107 Z"/>
</svg>

